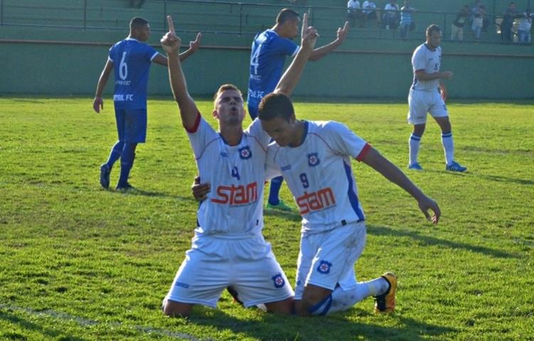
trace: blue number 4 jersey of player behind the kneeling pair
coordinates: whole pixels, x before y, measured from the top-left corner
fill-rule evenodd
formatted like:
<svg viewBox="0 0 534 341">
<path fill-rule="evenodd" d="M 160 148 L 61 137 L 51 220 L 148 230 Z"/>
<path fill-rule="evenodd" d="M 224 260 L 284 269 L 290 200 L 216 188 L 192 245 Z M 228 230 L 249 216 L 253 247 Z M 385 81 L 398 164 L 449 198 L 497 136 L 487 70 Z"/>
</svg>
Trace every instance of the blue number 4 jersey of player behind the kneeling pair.
<svg viewBox="0 0 534 341">
<path fill-rule="evenodd" d="M 274 91 L 282 77 L 286 55 L 294 56 L 298 50 L 299 46 L 292 40 L 272 30 L 257 34 L 250 53 L 249 106 L 257 107 L 266 94 Z"/>
</svg>

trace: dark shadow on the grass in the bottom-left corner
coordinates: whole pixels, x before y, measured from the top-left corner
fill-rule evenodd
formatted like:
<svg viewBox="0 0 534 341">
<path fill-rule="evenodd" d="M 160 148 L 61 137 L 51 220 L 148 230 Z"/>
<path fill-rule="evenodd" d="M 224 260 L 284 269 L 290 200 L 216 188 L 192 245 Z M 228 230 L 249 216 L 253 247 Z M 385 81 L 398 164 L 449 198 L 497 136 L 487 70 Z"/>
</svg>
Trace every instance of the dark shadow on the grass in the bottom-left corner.
<svg viewBox="0 0 534 341">
<path fill-rule="evenodd" d="M 72 340 L 72 341 L 85 341 L 86 339 L 83 339 L 81 337 L 75 337 L 73 335 L 65 334 L 64 332 L 61 332 L 61 330 L 58 329 L 50 329 L 45 328 L 42 325 L 38 325 L 37 323 L 30 322 L 26 319 L 19 318 L 18 316 L 14 315 L 14 313 L 11 312 L 5 312 L 0 311 L 0 320 L 5 320 L 7 323 L 11 323 L 13 325 L 18 325 L 21 330 L 30 330 L 33 332 L 39 332 L 45 337 L 46 340 L 48 339 L 60 339 L 58 340 Z M 16 332 L 15 330 L 11 332 L 0 332 L 0 337 L 5 337 L 5 339 L 2 340 L 31 340 L 31 337 L 28 337 L 28 335 L 21 334 L 19 332 Z"/>
</svg>

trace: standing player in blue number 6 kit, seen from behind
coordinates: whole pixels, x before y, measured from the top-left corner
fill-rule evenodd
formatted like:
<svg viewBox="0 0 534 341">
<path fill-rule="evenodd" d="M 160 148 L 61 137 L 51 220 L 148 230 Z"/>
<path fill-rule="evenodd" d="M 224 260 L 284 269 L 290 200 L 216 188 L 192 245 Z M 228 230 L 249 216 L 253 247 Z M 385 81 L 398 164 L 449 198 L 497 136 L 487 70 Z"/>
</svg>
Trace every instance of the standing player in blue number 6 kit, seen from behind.
<svg viewBox="0 0 534 341">
<path fill-rule="evenodd" d="M 113 102 L 119 140 L 111 149 L 106 163 L 100 166 L 100 185 L 110 187 L 111 169 L 119 158 L 121 171 L 117 190 L 129 190 L 129 173 L 134 165 L 137 144 L 146 139 L 146 83 L 149 79 L 151 62 L 167 66 L 167 58 L 144 43 L 150 36 L 149 22 L 144 18 L 132 18 L 129 36 L 110 48 L 104 70 L 100 74 L 92 108 L 95 112 L 104 109 L 102 92 L 110 73 L 115 67 L 115 87 Z M 201 33 L 192 41 L 189 49 L 181 53 L 180 59 L 185 60 L 195 53 L 201 44 Z"/>
</svg>

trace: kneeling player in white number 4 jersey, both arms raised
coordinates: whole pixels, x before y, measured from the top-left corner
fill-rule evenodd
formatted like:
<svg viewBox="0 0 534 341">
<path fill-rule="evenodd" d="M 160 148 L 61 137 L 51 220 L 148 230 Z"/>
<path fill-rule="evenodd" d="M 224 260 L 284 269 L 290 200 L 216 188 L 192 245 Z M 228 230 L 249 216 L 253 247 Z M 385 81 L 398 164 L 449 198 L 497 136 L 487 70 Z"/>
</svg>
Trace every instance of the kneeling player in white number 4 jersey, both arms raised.
<svg viewBox="0 0 534 341">
<path fill-rule="evenodd" d="M 181 40 L 170 17 L 168 21 L 169 33 L 161 39 L 161 45 L 169 58 L 171 88 L 198 172 L 213 190 L 198 208 L 193 245 L 164 300 L 164 313 L 184 316 L 195 304 L 215 307 L 228 286 L 239 293 L 246 307 L 265 304 L 269 311 L 291 313 L 294 293 L 262 236 L 265 158 L 270 137 L 258 120 L 243 131 L 244 103 L 233 85 L 221 86 L 215 95 L 213 116 L 219 121 L 220 132 L 202 119 L 188 94 L 178 59 Z M 303 29 L 302 48 L 287 72 L 304 68 L 315 38 L 312 28 Z M 289 92 L 295 84 L 289 82 Z"/>
</svg>

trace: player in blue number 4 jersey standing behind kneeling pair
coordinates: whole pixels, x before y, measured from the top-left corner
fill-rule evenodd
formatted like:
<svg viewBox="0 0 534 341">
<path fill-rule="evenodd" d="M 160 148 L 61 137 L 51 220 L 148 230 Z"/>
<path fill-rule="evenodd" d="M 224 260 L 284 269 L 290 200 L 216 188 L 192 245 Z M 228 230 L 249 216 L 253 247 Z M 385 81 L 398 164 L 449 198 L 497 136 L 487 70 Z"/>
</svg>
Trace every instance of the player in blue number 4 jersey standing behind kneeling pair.
<svg viewBox="0 0 534 341">
<path fill-rule="evenodd" d="M 248 81 L 247 105 L 252 119 L 257 117 L 257 108 L 262 97 L 271 93 L 277 86 L 284 70 L 286 55 L 294 56 L 299 46 L 292 39 L 299 32 L 299 13 L 292 9 L 282 9 L 278 13 L 276 24 L 262 33 L 258 33 L 252 41 L 250 53 L 250 77 Z M 331 43 L 314 49 L 309 60 L 319 60 L 338 48 L 348 34 L 348 22 L 338 28 L 337 37 Z M 269 199 L 266 208 L 269 210 L 290 211 L 291 207 L 279 198 L 282 177 L 271 180 Z"/>
</svg>

